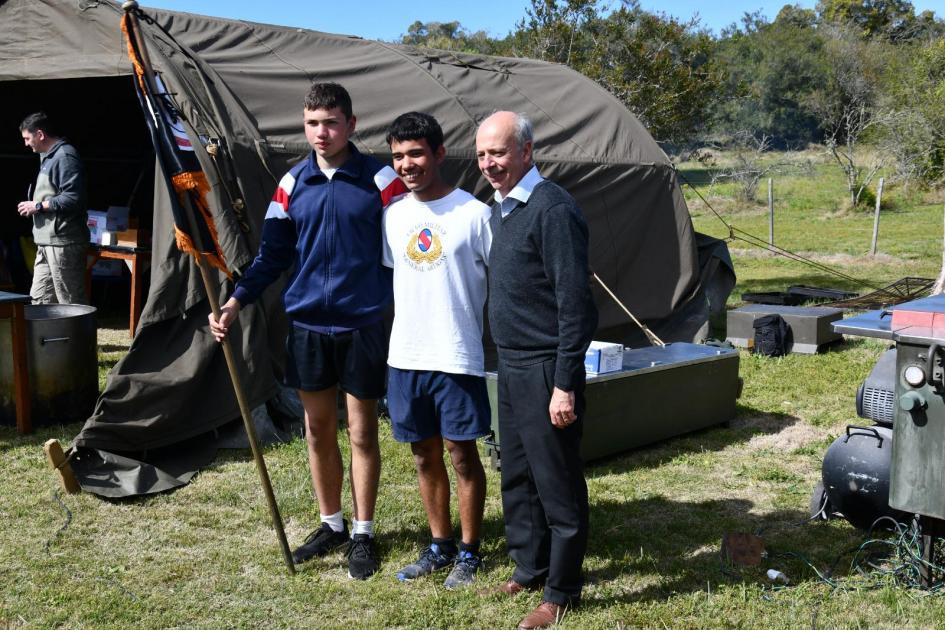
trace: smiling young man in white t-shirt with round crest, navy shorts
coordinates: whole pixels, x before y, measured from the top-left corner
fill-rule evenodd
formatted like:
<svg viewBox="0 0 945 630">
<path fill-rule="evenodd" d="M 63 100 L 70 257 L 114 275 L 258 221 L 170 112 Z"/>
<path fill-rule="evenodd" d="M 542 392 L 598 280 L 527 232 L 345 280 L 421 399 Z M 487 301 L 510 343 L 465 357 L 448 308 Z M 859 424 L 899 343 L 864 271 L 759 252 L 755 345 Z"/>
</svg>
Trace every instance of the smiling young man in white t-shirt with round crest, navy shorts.
<svg viewBox="0 0 945 630">
<path fill-rule="evenodd" d="M 489 433 L 482 351 L 490 209 L 443 181 L 443 131 L 428 114 L 391 124 L 394 170 L 410 191 L 384 211 L 384 264 L 394 269 L 387 400 L 394 438 L 409 442 L 432 542 L 397 573 L 402 581 L 452 567 L 446 588 L 471 584 L 481 564 L 486 476 L 476 439 Z M 456 472 L 462 538 L 453 538 Z"/>
</svg>

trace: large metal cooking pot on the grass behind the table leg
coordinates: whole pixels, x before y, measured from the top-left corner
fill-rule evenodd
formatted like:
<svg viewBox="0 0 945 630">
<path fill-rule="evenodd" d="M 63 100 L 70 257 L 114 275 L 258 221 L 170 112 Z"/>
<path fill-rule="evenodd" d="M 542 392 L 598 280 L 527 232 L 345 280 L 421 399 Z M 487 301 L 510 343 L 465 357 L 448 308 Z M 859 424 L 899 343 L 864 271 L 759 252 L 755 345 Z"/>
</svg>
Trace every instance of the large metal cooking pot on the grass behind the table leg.
<svg viewBox="0 0 945 630">
<path fill-rule="evenodd" d="M 33 426 L 86 420 L 98 398 L 95 307 L 24 307 Z M 10 321 L 0 320 L 0 422 L 16 423 Z"/>
</svg>

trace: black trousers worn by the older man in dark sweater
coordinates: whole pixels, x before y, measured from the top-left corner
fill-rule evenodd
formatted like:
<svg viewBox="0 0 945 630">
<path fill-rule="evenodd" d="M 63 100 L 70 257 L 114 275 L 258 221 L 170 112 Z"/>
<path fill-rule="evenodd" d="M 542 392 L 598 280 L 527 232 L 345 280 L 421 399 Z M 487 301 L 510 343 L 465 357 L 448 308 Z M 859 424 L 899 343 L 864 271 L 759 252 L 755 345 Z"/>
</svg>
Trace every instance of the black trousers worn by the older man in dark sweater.
<svg viewBox="0 0 945 630">
<path fill-rule="evenodd" d="M 502 509 L 512 579 L 545 584 L 545 601 L 575 605 L 584 577 L 588 503 L 581 433 L 584 388 L 578 388 L 578 419 L 564 429 L 551 424 L 548 404 L 555 360 L 510 364 L 499 357 L 499 440 Z"/>
</svg>

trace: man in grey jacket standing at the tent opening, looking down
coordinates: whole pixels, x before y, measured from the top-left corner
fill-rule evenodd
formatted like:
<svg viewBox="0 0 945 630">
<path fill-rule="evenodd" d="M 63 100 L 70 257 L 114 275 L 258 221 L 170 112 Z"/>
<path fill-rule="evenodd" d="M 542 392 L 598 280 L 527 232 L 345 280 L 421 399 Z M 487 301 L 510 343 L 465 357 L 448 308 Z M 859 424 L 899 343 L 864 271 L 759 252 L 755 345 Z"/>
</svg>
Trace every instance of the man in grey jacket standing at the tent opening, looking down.
<svg viewBox="0 0 945 630">
<path fill-rule="evenodd" d="M 89 247 L 85 170 L 79 153 L 43 112 L 20 123 L 23 144 L 39 153 L 39 175 L 17 212 L 33 219 L 36 262 L 34 304 L 88 304 L 85 261 Z"/>
</svg>

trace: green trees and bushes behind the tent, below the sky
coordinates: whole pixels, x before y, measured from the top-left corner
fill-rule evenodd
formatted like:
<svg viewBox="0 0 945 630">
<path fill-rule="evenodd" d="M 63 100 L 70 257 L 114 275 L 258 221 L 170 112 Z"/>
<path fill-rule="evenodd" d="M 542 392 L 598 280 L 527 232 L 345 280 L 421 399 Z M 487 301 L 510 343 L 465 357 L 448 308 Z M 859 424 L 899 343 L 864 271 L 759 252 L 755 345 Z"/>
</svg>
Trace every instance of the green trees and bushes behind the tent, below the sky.
<svg viewBox="0 0 945 630">
<path fill-rule="evenodd" d="M 670 152 L 748 141 L 825 145 L 856 203 L 880 168 L 945 179 L 945 20 L 908 0 L 787 4 L 718 35 L 637 0 L 531 0 L 504 37 L 414 22 L 401 43 L 566 64 L 620 99 Z M 876 159 L 865 160 L 862 147 Z"/>
</svg>

